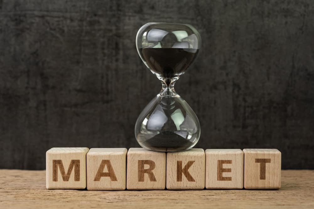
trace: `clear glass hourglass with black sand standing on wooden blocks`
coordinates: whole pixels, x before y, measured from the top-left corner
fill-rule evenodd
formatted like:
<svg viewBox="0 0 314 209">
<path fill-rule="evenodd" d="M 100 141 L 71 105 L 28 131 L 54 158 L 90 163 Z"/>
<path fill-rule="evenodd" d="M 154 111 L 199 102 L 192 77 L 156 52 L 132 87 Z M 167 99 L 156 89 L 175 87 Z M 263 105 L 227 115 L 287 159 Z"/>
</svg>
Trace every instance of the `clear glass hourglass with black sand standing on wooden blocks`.
<svg viewBox="0 0 314 209">
<path fill-rule="evenodd" d="M 143 148 L 183 151 L 198 142 L 198 118 L 174 84 L 195 60 L 200 46 L 201 37 L 191 25 L 147 23 L 138 30 L 138 54 L 162 84 L 135 124 L 135 137 Z"/>
</svg>

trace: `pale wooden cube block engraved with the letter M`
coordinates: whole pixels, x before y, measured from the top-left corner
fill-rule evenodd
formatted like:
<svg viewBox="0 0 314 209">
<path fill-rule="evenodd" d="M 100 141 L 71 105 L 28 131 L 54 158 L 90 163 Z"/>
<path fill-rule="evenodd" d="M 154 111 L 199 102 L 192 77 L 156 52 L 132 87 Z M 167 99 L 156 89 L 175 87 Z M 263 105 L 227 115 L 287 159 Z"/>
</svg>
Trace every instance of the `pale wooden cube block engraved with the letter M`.
<svg viewBox="0 0 314 209">
<path fill-rule="evenodd" d="M 46 152 L 47 189 L 85 189 L 87 147 L 51 148 Z"/>
</svg>

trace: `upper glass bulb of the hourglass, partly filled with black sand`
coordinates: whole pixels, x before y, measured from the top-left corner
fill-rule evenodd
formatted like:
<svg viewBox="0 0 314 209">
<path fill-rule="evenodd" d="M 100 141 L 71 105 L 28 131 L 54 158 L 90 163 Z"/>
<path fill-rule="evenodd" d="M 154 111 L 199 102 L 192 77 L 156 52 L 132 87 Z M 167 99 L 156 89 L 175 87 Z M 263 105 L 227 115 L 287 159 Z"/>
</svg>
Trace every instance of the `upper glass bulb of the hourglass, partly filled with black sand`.
<svg viewBox="0 0 314 209">
<path fill-rule="evenodd" d="M 147 23 L 136 35 L 136 48 L 146 66 L 160 80 L 176 81 L 192 64 L 201 36 L 192 25 Z"/>
</svg>

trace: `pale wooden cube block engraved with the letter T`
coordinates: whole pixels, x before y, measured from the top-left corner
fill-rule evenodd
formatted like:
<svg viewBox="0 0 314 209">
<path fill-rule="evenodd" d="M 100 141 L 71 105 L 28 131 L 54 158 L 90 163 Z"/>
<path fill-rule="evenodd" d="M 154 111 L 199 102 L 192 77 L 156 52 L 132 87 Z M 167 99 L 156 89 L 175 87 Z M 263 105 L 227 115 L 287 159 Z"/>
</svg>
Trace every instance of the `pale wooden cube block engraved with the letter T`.
<svg viewBox="0 0 314 209">
<path fill-rule="evenodd" d="M 278 149 L 243 149 L 244 188 L 279 189 L 281 152 Z"/>
</svg>

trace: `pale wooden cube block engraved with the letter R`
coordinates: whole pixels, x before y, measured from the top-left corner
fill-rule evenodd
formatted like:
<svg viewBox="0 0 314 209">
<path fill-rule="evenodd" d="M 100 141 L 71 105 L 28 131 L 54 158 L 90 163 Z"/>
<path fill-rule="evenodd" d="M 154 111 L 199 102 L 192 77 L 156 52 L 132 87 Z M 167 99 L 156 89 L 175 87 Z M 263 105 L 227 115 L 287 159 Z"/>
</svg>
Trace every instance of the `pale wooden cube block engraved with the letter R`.
<svg viewBox="0 0 314 209">
<path fill-rule="evenodd" d="M 166 153 L 144 148 L 127 152 L 127 189 L 163 190 L 166 182 Z"/>
</svg>

